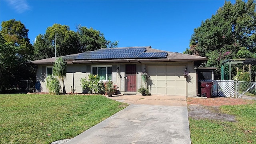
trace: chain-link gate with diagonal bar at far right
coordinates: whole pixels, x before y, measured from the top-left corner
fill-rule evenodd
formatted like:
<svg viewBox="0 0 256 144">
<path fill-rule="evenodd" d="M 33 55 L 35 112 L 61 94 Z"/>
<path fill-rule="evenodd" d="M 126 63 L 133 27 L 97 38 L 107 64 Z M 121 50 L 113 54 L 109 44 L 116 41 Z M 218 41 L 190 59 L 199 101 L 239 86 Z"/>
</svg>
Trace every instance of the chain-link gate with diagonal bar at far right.
<svg viewBox="0 0 256 144">
<path fill-rule="evenodd" d="M 236 97 L 246 99 L 256 99 L 256 82 L 237 81 Z"/>
</svg>

